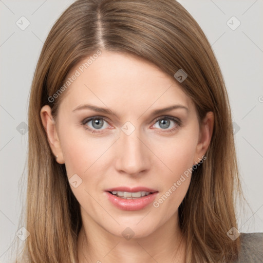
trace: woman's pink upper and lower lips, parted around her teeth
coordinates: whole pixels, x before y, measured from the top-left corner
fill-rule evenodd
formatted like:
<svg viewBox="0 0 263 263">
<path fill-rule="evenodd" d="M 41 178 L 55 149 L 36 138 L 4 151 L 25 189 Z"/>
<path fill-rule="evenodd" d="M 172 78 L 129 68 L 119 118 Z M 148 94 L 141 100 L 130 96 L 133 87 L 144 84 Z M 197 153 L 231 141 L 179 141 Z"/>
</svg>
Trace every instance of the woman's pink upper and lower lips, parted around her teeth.
<svg viewBox="0 0 263 263">
<path fill-rule="evenodd" d="M 132 193 L 144 191 L 144 192 L 151 192 L 152 194 L 149 194 L 147 196 L 142 196 L 137 199 L 124 199 L 124 198 L 110 194 L 109 192 L 112 192 L 112 191 L 132 192 Z M 133 187 L 133 188 L 121 186 L 121 187 L 107 189 L 105 191 L 105 194 L 108 200 L 112 204 L 114 204 L 117 208 L 121 210 L 126 210 L 126 211 L 135 211 L 135 210 L 141 210 L 145 208 L 148 204 L 152 203 L 154 199 L 156 198 L 158 191 L 149 189 L 147 187 L 141 187 L 141 186 Z"/>
</svg>

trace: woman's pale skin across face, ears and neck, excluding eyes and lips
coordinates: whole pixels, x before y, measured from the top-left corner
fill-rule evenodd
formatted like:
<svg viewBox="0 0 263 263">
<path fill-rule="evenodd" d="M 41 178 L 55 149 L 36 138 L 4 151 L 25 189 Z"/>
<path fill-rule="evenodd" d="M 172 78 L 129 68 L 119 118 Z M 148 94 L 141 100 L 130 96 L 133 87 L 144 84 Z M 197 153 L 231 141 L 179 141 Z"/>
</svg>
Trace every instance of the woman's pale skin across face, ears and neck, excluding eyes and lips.
<svg viewBox="0 0 263 263">
<path fill-rule="evenodd" d="M 83 104 L 107 108 L 116 115 L 74 110 Z M 172 105 L 180 106 L 152 115 Z M 98 118 L 101 128 L 92 121 L 82 123 L 96 116 L 104 119 Z M 168 119 L 164 128 L 165 116 L 176 121 Z M 145 186 L 158 191 L 156 200 L 161 198 L 205 155 L 213 113 L 199 123 L 193 101 L 175 79 L 144 60 L 102 50 L 63 94 L 56 122 L 47 105 L 41 118 L 57 162 L 65 164 L 69 179 L 74 174 L 82 179 L 77 188 L 70 185 L 83 221 L 78 262 L 185 262 L 187 244 L 178 224 L 178 207 L 191 174 L 158 208 L 151 203 L 142 210 L 123 211 L 109 202 L 104 190 Z M 127 121 L 135 127 L 130 135 L 121 129 Z M 127 227 L 134 232 L 128 240 L 122 235 Z"/>
</svg>

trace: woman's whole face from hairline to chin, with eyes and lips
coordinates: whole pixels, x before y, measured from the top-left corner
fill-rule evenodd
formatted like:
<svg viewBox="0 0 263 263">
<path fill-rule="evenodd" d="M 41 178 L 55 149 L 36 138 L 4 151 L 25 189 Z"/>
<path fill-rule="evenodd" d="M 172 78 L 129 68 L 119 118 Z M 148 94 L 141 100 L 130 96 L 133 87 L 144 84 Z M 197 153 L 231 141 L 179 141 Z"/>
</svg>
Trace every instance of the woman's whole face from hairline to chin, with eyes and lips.
<svg viewBox="0 0 263 263">
<path fill-rule="evenodd" d="M 148 236 L 178 218 L 191 168 L 209 144 L 209 121 L 199 125 L 178 82 L 148 62 L 108 51 L 80 67 L 85 62 L 68 74 L 78 77 L 48 134 L 52 151 L 65 163 L 86 228 Z"/>
</svg>

